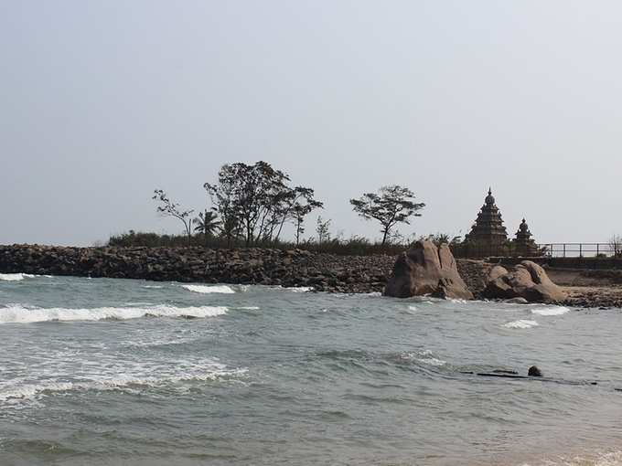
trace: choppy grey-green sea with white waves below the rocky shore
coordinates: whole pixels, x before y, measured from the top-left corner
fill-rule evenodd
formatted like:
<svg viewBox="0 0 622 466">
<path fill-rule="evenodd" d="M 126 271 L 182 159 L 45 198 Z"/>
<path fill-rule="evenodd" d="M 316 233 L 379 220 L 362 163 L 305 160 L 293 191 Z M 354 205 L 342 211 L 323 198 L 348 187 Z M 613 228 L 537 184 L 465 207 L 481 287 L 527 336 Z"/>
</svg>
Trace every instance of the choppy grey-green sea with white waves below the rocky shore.
<svg viewBox="0 0 622 466">
<path fill-rule="evenodd" d="M 3 466 L 622 464 L 620 309 L 0 274 L 0 344 Z"/>
</svg>

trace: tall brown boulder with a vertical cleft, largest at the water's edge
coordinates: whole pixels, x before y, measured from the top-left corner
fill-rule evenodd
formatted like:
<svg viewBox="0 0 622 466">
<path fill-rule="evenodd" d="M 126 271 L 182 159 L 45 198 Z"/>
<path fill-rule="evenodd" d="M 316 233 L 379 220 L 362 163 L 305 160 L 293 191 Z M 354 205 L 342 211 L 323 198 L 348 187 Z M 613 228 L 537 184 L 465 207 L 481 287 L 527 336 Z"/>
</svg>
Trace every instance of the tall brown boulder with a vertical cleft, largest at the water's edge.
<svg viewBox="0 0 622 466">
<path fill-rule="evenodd" d="M 436 248 L 432 241 L 417 241 L 398 256 L 384 294 L 396 298 L 432 294 L 439 298 L 473 299 L 449 246 L 442 244 Z"/>
</svg>

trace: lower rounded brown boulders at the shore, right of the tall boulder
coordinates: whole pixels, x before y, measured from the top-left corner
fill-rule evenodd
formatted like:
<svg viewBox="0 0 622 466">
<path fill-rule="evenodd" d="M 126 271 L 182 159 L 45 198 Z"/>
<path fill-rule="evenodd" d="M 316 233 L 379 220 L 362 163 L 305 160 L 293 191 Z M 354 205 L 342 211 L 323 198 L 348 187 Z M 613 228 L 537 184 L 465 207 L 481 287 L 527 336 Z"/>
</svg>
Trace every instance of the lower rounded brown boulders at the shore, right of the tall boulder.
<svg viewBox="0 0 622 466">
<path fill-rule="evenodd" d="M 489 299 L 524 298 L 528 302 L 563 302 L 568 297 L 544 269 L 531 260 L 523 260 L 512 271 L 494 267 L 488 274 L 483 294 Z"/>
</svg>

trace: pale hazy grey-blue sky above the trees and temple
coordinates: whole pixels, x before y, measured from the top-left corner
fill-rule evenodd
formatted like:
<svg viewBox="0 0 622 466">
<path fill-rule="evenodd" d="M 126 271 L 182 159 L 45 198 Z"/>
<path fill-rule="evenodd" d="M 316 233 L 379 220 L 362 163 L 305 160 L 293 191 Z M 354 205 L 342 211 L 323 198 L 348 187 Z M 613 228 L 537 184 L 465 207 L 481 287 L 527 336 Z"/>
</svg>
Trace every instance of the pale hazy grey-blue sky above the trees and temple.
<svg viewBox="0 0 622 466">
<path fill-rule="evenodd" d="M 204 208 L 265 160 L 349 198 L 413 189 L 404 234 L 466 233 L 492 185 L 513 234 L 622 233 L 617 1 L 0 0 L 0 243 L 89 245 Z M 307 222 L 313 233 L 316 216 Z"/>
</svg>

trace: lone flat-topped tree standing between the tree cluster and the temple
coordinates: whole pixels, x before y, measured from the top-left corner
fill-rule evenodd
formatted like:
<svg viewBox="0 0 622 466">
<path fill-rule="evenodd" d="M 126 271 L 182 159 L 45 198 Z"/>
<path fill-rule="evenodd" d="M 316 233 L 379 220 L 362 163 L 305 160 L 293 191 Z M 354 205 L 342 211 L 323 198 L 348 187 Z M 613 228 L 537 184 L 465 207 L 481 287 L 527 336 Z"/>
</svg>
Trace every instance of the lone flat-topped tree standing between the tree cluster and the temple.
<svg viewBox="0 0 622 466">
<path fill-rule="evenodd" d="M 398 223 L 410 224 L 410 217 L 421 217 L 419 210 L 424 203 L 413 202 L 413 192 L 400 185 L 382 186 L 378 193 L 365 193 L 359 199 L 350 199 L 353 210 L 366 220 L 381 223 L 382 245 L 387 241 L 391 229 Z"/>
</svg>

